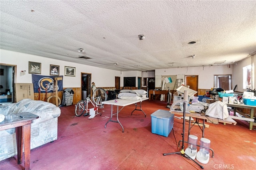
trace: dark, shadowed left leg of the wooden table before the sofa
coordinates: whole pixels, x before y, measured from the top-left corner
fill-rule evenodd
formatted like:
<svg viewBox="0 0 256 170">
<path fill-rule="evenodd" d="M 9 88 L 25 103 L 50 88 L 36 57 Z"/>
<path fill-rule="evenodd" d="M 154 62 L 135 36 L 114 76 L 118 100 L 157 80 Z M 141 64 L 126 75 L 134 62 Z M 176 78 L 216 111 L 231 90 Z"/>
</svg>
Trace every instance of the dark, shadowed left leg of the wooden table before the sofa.
<svg viewBox="0 0 256 170">
<path fill-rule="evenodd" d="M 23 140 L 22 127 L 16 127 L 16 144 L 17 144 L 17 158 L 18 164 L 22 163 L 22 155 L 23 155 Z"/>
</svg>

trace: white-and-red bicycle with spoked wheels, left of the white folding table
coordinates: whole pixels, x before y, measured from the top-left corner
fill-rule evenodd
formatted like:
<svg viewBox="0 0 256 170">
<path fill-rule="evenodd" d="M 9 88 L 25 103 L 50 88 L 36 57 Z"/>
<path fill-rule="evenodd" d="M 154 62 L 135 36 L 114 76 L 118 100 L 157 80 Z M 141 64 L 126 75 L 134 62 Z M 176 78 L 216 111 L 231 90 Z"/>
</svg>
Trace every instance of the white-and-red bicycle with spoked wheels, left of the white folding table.
<svg viewBox="0 0 256 170">
<path fill-rule="evenodd" d="M 104 89 L 101 89 L 101 88 L 96 89 L 92 94 L 92 101 L 94 101 L 95 104 L 92 103 L 90 97 L 87 97 L 86 100 L 78 101 L 75 108 L 75 115 L 79 117 L 84 113 L 84 111 L 86 111 L 84 116 L 90 115 L 89 119 L 94 118 L 98 114 L 101 115 L 101 113 L 98 112 L 98 108 L 100 109 L 103 108 L 102 101 L 106 101 L 106 99 L 107 99 L 107 95 Z M 88 109 L 88 103 L 90 102 L 92 103 L 93 107 Z"/>
</svg>

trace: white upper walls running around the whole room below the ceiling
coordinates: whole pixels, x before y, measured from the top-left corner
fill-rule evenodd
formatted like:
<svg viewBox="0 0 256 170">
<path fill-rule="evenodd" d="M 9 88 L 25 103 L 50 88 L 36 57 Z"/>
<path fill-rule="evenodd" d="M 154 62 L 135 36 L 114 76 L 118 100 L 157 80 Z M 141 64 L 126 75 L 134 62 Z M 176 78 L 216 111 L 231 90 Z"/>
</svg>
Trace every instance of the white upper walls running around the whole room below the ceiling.
<svg viewBox="0 0 256 170">
<path fill-rule="evenodd" d="M 65 87 L 81 87 L 81 72 L 91 73 L 92 81 L 96 83 L 96 87 L 114 87 L 115 76 L 120 77 L 120 86 L 124 84 L 123 77 L 155 77 L 155 75 L 198 75 L 198 88 L 210 89 L 214 86 L 214 75 L 232 74 L 233 88 L 238 84 L 237 91 L 244 91 L 242 89 L 242 67 L 251 64 L 251 58 L 240 61 L 237 65 L 220 65 L 207 67 L 185 67 L 172 69 L 157 69 L 155 71 L 141 72 L 141 71 L 115 71 L 110 69 L 102 69 L 89 65 L 79 63 L 72 63 L 67 61 L 60 61 L 37 55 L 30 55 L 25 53 L 18 53 L 14 51 L 7 51 L 0 49 L 0 63 L 17 65 L 16 83 L 32 83 L 32 75 L 28 73 L 28 61 L 35 61 L 42 63 L 41 75 L 50 74 L 50 64 L 60 65 L 60 75 L 64 75 L 64 66 L 76 67 L 76 76 L 64 76 L 63 84 Z M 256 55 L 254 55 L 254 62 Z M 254 64 L 255 65 L 255 64 Z M 20 76 L 20 71 L 26 70 L 26 75 Z M 234 73 L 233 73 L 234 72 Z M 255 75 L 255 69 L 254 69 Z M 255 78 L 254 78 L 254 86 Z M 241 84 L 240 84 L 241 83 Z M 138 86 L 138 79 L 136 78 L 136 86 Z M 254 87 L 255 88 L 255 87 Z"/>
</svg>

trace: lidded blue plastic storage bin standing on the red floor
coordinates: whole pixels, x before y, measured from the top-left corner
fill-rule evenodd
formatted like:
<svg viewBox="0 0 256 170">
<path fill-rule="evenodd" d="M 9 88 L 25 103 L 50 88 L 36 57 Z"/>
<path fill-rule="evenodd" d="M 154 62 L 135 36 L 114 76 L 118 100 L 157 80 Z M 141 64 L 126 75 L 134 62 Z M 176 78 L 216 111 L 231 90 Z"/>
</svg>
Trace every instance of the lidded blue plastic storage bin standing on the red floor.
<svg viewBox="0 0 256 170">
<path fill-rule="evenodd" d="M 166 110 L 157 110 L 151 114 L 151 132 L 168 137 L 173 127 L 174 114 Z"/>
</svg>

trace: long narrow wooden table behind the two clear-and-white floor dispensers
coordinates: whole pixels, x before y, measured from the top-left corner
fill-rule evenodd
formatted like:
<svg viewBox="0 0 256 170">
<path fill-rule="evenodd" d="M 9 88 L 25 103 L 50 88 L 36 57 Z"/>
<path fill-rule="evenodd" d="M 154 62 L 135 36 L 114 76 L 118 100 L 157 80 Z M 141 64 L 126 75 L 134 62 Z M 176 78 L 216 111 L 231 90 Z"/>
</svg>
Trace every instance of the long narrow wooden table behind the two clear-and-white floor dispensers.
<svg viewBox="0 0 256 170">
<path fill-rule="evenodd" d="M 182 115 L 183 116 L 183 112 L 182 111 L 173 111 L 170 110 L 170 113 L 176 114 L 176 115 Z M 232 118 L 228 117 L 225 120 L 222 119 L 217 119 L 217 118 L 213 118 L 213 117 L 208 117 L 205 115 L 200 115 L 199 113 L 186 113 L 186 116 L 189 117 L 189 128 L 188 128 L 188 135 L 190 134 L 190 128 L 191 127 L 191 117 L 194 117 L 196 119 L 202 119 L 203 120 L 203 128 L 202 130 L 202 137 L 204 137 L 204 124 L 205 124 L 205 120 L 210 120 L 211 122 L 221 122 L 221 123 L 228 123 L 228 124 L 233 124 L 236 125 L 236 121 L 234 121 Z M 201 127 L 200 127 L 201 128 Z"/>
</svg>

